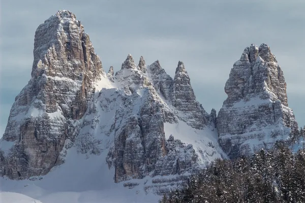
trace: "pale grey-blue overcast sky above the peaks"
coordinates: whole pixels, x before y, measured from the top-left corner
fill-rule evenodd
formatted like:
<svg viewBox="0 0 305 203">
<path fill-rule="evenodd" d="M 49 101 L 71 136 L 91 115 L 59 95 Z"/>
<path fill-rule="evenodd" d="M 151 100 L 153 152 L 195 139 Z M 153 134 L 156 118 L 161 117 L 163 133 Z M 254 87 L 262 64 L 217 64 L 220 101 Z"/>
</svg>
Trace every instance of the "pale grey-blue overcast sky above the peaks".
<svg viewBox="0 0 305 203">
<path fill-rule="evenodd" d="M 252 43 L 266 43 L 287 82 L 288 104 L 305 125 L 305 1 L 33 1 L 1 2 L 0 134 L 15 96 L 31 78 L 35 30 L 58 10 L 72 11 L 90 36 L 107 72 L 131 53 L 159 59 L 173 77 L 184 61 L 195 94 L 217 111 L 233 63 Z M 0 137 L 1 137 L 0 136 Z"/>
</svg>

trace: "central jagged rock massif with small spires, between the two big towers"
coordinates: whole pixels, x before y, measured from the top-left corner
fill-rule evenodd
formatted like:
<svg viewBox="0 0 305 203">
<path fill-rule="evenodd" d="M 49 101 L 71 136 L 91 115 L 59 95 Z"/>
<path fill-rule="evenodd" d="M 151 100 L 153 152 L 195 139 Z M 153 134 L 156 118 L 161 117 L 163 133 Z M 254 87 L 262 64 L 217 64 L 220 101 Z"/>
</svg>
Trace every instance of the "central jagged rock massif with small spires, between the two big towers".
<svg viewBox="0 0 305 203">
<path fill-rule="evenodd" d="M 144 66 L 136 69 L 133 61 L 129 55 L 121 70 L 115 74 L 115 81 L 124 94 L 112 94 L 117 104 L 120 104 L 115 110 L 114 145 L 107 156 L 109 167 L 115 170 L 115 182 L 146 176 L 182 176 L 202 167 L 207 157 L 220 155 L 216 148 L 208 147 L 213 152 L 200 162 L 197 155 L 199 148 L 180 140 L 174 141 L 173 138 L 166 141 L 165 123 L 185 122 L 193 130 L 215 127 L 213 119 L 216 118 L 216 112 L 215 118 L 210 119 L 196 101 L 185 67 L 177 67 L 173 80 L 158 60 L 148 65 L 147 69 Z M 145 64 L 143 57 L 138 67 L 141 64 Z M 190 100 L 185 100 L 189 95 L 192 96 Z M 175 106 L 172 105 L 174 102 Z M 190 118 L 192 122 L 188 122 Z"/>
</svg>

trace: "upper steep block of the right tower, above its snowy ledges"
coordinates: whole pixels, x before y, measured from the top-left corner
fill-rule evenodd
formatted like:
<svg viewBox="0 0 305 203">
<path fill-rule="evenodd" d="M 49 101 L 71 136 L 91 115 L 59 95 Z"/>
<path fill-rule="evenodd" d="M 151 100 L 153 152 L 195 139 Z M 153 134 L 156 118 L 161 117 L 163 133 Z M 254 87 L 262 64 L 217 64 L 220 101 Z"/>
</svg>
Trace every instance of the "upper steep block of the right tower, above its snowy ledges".
<svg viewBox="0 0 305 203">
<path fill-rule="evenodd" d="M 279 99 L 283 105 L 288 106 L 282 69 L 266 44 L 259 48 L 252 44 L 243 51 L 233 65 L 225 92 L 228 95 L 225 103 L 228 104 L 259 96 L 272 101 Z"/>
</svg>

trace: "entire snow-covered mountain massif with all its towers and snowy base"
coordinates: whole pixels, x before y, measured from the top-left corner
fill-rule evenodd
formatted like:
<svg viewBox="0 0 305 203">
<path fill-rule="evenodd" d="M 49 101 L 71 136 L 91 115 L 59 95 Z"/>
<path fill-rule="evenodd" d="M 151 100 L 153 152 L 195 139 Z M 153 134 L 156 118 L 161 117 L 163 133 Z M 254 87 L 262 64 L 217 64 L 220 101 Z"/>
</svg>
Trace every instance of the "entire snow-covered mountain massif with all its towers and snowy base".
<svg viewBox="0 0 305 203">
<path fill-rule="evenodd" d="M 130 54 L 106 73 L 80 21 L 60 10 L 37 28 L 32 79 L 0 140 L 0 190 L 44 203 L 157 202 L 216 158 L 297 129 L 266 45 L 243 52 L 225 91 L 217 117 L 196 100 L 181 61 L 174 78 Z"/>
</svg>

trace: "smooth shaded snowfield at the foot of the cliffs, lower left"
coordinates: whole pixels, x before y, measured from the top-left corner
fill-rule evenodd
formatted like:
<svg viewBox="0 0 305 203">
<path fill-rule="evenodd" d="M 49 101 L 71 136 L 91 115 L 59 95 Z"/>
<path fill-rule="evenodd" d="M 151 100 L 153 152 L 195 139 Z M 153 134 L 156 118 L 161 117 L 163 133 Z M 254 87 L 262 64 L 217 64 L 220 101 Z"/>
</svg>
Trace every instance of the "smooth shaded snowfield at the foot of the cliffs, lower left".
<svg viewBox="0 0 305 203">
<path fill-rule="evenodd" d="M 67 154 L 66 163 L 53 168 L 46 176 L 19 181 L 1 178 L 0 191 L 24 194 L 43 203 L 158 201 L 160 197 L 153 193 L 146 195 L 143 186 L 128 189 L 123 186 L 124 183 L 114 183 L 114 172 L 108 169 L 105 156 L 106 152 L 86 158 L 72 148 Z"/>
</svg>

